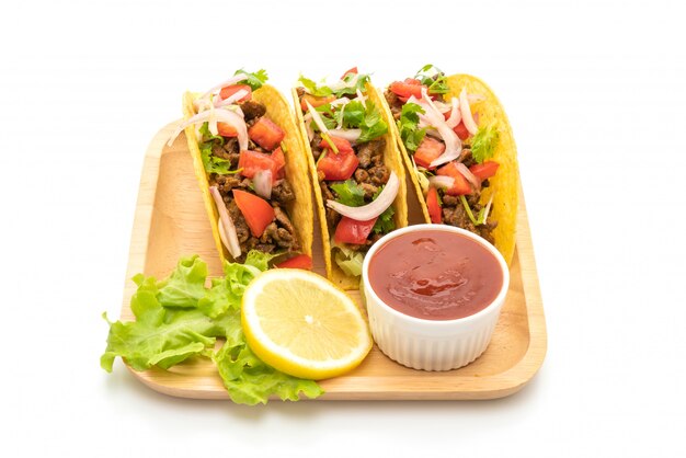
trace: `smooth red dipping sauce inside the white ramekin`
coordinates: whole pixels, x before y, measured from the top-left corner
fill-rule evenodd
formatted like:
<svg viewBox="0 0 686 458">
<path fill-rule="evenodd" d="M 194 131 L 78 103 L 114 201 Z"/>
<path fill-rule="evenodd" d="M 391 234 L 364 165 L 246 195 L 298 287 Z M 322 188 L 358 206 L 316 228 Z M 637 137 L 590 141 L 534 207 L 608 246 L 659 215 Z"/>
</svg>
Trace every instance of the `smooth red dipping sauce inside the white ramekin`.
<svg viewBox="0 0 686 458">
<path fill-rule="evenodd" d="M 368 277 L 385 304 L 425 320 L 475 314 L 503 287 L 501 265 L 485 247 L 459 233 L 431 229 L 403 233 L 379 247 L 369 261 Z"/>
</svg>

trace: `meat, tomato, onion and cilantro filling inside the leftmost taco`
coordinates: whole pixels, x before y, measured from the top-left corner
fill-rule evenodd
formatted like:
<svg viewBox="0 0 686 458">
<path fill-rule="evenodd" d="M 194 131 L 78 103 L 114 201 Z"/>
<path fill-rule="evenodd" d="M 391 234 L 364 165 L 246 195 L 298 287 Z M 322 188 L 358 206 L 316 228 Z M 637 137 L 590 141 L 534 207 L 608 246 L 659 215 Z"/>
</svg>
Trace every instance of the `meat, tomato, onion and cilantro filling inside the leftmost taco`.
<svg viewBox="0 0 686 458">
<path fill-rule="evenodd" d="M 266 79 L 264 70 L 238 70 L 196 99 L 197 114 L 178 128 L 196 126 L 219 234 L 238 262 L 250 250 L 289 255 L 299 250 L 286 209 L 295 193 L 285 176 L 285 133 L 266 116 L 265 105 L 251 100 Z"/>
</svg>

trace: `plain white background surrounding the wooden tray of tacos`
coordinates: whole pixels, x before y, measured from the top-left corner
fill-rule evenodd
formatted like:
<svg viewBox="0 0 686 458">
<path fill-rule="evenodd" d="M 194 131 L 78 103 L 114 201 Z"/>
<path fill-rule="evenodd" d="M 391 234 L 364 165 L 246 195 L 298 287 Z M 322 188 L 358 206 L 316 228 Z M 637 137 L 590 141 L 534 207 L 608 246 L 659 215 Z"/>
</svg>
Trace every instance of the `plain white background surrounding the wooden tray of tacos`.
<svg viewBox="0 0 686 458">
<path fill-rule="evenodd" d="M 0 15 L 3 456 L 685 453 L 686 33 L 677 1 L 12 2 Z M 99 366 L 144 153 L 186 89 L 266 68 L 433 62 L 484 79 L 517 141 L 548 325 L 488 402 L 158 394 Z M 42 455 L 36 455 L 41 453 Z M 191 455 L 192 454 L 192 455 Z M 684 456 L 684 455 L 682 455 Z"/>
</svg>

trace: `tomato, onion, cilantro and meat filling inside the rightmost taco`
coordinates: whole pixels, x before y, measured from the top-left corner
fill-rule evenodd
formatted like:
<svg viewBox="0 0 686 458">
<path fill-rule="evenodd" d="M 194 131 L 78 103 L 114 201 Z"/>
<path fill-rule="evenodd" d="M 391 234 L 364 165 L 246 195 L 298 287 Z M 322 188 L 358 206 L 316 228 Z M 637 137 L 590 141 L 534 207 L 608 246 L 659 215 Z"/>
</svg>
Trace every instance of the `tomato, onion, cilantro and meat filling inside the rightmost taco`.
<svg viewBox="0 0 686 458">
<path fill-rule="evenodd" d="M 498 126 L 480 126 L 471 105 L 483 100 L 462 88 L 450 98 L 445 75 L 432 65 L 413 78 L 392 82 L 385 92 L 400 137 L 414 164 L 431 221 L 457 226 L 491 243 L 498 221 L 489 219 L 491 201 L 481 191 L 498 172 L 490 160 Z"/>
</svg>

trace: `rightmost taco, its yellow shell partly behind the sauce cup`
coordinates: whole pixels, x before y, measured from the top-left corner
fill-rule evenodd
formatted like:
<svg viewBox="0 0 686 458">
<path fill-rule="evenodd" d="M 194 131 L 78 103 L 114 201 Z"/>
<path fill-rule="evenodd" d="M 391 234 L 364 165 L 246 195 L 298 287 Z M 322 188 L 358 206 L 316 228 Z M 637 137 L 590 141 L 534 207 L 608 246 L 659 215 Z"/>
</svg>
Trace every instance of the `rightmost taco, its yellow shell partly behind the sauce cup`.
<svg viewBox="0 0 686 458">
<path fill-rule="evenodd" d="M 510 263 L 519 174 L 510 123 L 491 89 L 427 65 L 392 82 L 384 99 L 425 221 L 478 233 Z"/>
</svg>

